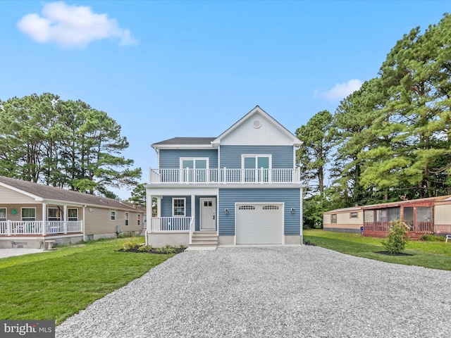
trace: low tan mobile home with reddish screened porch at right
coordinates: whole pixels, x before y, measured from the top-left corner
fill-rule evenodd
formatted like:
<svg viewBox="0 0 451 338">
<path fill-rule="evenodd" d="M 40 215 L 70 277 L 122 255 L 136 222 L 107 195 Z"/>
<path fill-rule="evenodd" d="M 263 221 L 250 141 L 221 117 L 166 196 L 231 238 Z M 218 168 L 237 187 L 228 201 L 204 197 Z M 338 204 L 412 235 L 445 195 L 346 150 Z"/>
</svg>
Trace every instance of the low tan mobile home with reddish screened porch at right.
<svg viewBox="0 0 451 338">
<path fill-rule="evenodd" d="M 412 238 L 422 234 L 451 234 L 451 196 L 328 211 L 323 214 L 323 229 L 357 233 L 363 227 L 364 236 L 385 237 L 390 221 L 395 219 L 407 224 Z"/>
</svg>

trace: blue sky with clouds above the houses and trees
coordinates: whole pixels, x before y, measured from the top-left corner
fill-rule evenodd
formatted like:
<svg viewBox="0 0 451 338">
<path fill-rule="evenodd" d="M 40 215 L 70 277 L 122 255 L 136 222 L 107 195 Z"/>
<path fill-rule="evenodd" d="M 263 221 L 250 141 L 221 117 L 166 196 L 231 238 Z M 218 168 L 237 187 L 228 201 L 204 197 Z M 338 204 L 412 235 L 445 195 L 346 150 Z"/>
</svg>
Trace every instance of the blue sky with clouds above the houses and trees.
<svg viewBox="0 0 451 338">
<path fill-rule="evenodd" d="M 51 92 L 122 126 L 126 158 L 215 137 L 259 105 L 288 130 L 376 77 L 451 1 L 0 1 L 0 100 Z M 123 199 L 130 192 L 117 192 Z"/>
</svg>

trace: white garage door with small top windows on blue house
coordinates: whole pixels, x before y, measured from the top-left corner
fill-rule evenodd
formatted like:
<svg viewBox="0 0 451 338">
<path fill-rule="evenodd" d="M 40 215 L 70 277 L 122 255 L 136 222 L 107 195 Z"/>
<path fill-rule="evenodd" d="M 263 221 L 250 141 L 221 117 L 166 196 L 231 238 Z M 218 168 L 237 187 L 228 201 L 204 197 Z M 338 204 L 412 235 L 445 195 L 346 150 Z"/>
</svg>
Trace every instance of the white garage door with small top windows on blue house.
<svg viewBox="0 0 451 338">
<path fill-rule="evenodd" d="M 237 244 L 282 244 L 283 204 L 237 204 Z"/>
</svg>

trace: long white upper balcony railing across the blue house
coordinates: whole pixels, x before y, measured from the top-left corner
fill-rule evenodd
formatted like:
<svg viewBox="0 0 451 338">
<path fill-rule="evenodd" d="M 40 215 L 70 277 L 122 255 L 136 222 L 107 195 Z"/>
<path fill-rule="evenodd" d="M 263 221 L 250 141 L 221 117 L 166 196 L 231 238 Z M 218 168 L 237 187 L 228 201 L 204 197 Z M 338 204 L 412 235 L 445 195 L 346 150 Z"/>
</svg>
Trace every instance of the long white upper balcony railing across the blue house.
<svg viewBox="0 0 451 338">
<path fill-rule="evenodd" d="M 300 168 L 290 169 L 152 169 L 150 184 L 280 184 L 299 183 Z"/>
</svg>

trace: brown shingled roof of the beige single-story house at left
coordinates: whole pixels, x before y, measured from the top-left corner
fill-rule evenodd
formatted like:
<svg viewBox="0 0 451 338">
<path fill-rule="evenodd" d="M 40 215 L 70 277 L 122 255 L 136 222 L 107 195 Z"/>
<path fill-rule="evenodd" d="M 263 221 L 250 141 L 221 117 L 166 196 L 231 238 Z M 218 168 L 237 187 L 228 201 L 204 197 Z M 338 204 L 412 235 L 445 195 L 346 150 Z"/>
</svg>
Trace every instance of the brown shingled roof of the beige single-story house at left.
<svg viewBox="0 0 451 338">
<path fill-rule="evenodd" d="M 145 212 L 144 208 L 135 206 L 128 202 L 108 199 L 103 196 L 84 194 L 82 192 L 74 192 L 68 189 L 49 187 L 48 185 L 17 180 L 10 177 L 0 176 L 0 186 L 13 189 L 16 192 L 30 196 L 36 201 L 61 201 L 80 205 L 101 206 L 104 208 Z"/>
</svg>

